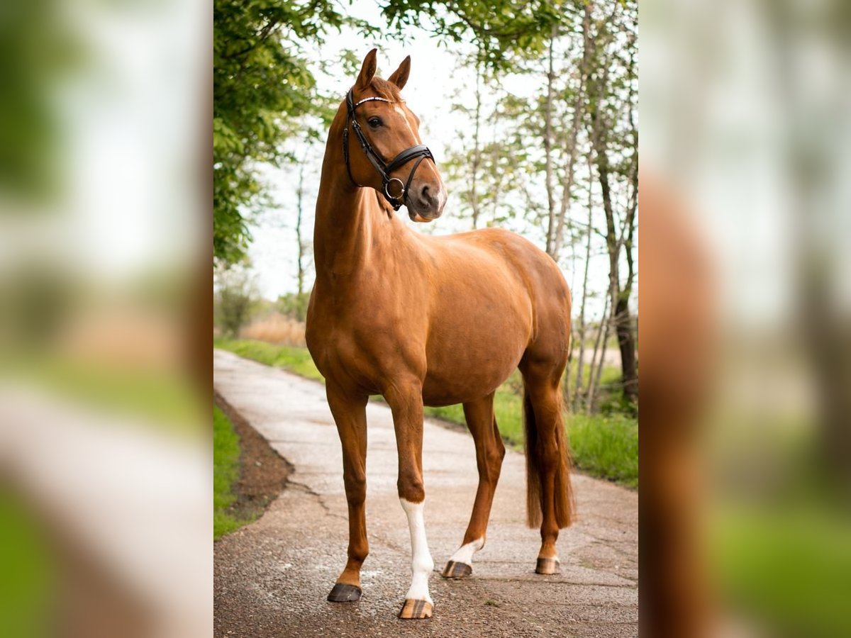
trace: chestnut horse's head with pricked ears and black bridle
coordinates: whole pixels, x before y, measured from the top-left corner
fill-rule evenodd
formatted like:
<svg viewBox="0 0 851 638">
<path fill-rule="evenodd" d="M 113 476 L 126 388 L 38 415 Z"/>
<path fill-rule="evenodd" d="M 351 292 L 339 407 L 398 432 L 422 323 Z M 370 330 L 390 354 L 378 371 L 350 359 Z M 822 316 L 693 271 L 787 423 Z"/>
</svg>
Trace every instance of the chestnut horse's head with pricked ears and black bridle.
<svg viewBox="0 0 851 638">
<path fill-rule="evenodd" d="M 343 153 L 351 180 L 382 193 L 393 208 L 427 222 L 443 213 L 446 188 L 431 151 L 420 140 L 420 118 L 399 91 L 408 82 L 411 58 L 386 80 L 375 76 L 376 49 L 363 60 L 357 81 L 337 114 L 344 121 Z"/>
</svg>

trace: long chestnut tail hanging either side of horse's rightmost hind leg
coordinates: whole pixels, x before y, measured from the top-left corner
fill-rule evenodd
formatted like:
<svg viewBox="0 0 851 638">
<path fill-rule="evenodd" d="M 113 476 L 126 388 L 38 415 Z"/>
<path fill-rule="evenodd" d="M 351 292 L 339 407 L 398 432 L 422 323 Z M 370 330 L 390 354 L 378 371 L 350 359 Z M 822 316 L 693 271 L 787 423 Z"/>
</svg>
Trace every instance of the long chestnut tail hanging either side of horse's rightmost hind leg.
<svg viewBox="0 0 851 638">
<path fill-rule="evenodd" d="M 534 416 L 532 400 L 528 391 L 523 389 L 523 430 L 526 443 L 526 523 L 528 527 L 540 527 L 541 523 L 541 475 L 545 464 L 555 465 L 555 501 L 556 522 L 559 528 L 568 527 L 573 522 L 574 493 L 570 485 L 570 450 L 567 436 L 564 434 L 561 392 L 556 393 L 557 410 L 555 417 L 555 447 L 552 440 L 547 441 L 541 435 Z M 549 437 L 546 437 L 549 438 Z"/>
</svg>

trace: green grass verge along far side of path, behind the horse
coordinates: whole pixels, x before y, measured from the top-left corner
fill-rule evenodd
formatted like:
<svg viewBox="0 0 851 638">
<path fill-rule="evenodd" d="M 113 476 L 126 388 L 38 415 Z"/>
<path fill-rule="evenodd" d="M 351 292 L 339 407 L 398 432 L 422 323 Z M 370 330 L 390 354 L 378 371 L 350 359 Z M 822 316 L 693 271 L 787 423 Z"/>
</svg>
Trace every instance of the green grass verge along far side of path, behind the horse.
<svg viewBox="0 0 851 638">
<path fill-rule="evenodd" d="M 274 367 L 323 380 L 306 348 L 248 339 L 214 339 L 214 346 Z M 575 370 L 575 367 L 574 367 Z M 614 372 L 613 372 L 614 371 Z M 616 368 L 603 368 L 601 383 L 617 380 Z M 494 396 L 494 413 L 505 444 L 523 449 L 523 398 L 520 374 L 511 374 Z M 460 405 L 426 407 L 426 416 L 465 425 Z M 621 414 L 566 414 L 574 464 L 591 476 L 638 487 L 638 421 Z"/>
</svg>

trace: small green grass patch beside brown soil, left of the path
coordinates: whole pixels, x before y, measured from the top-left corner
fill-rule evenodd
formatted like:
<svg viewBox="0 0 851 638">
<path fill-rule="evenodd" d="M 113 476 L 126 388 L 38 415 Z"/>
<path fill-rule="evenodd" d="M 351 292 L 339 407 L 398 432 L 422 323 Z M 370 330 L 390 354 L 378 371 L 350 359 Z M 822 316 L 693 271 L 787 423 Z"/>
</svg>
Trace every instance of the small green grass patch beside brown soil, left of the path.
<svg viewBox="0 0 851 638">
<path fill-rule="evenodd" d="M 213 538 L 231 533 L 251 519 L 233 516 L 237 497 L 233 486 L 239 481 L 239 436 L 219 407 L 213 407 Z"/>
</svg>

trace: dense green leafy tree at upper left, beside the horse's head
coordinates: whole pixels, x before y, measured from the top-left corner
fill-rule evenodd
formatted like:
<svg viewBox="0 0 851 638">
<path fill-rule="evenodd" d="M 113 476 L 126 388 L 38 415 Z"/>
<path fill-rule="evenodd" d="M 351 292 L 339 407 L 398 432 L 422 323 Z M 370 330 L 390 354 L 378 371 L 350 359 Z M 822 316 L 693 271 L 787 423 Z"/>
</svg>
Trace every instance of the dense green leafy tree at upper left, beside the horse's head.
<svg viewBox="0 0 851 638">
<path fill-rule="evenodd" d="M 233 264 L 245 255 L 250 215 L 265 203 L 258 165 L 277 166 L 283 140 L 303 128 L 300 119 L 328 110 L 302 43 L 345 23 L 367 28 L 330 0 L 214 0 L 215 259 Z"/>
</svg>

